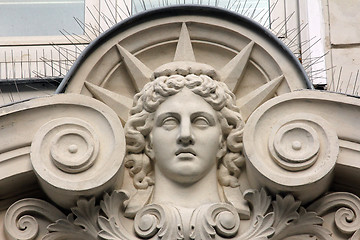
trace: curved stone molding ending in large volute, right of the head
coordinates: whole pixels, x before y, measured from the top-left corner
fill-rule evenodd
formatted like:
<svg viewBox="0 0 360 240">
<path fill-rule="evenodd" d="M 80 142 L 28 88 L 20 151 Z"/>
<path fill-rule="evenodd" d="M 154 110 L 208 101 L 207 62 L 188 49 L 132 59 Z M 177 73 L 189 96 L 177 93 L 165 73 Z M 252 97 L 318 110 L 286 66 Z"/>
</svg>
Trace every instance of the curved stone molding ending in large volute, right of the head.
<svg viewBox="0 0 360 240">
<path fill-rule="evenodd" d="M 278 96 L 260 106 L 244 131 L 252 187 L 291 192 L 310 202 L 327 191 L 334 169 L 346 164 L 359 172 L 360 166 L 354 162 L 354 156 L 360 155 L 359 110 L 359 99 L 306 90 Z M 350 157 L 346 154 L 349 145 Z M 339 176 L 335 182 L 343 179 Z"/>
</svg>

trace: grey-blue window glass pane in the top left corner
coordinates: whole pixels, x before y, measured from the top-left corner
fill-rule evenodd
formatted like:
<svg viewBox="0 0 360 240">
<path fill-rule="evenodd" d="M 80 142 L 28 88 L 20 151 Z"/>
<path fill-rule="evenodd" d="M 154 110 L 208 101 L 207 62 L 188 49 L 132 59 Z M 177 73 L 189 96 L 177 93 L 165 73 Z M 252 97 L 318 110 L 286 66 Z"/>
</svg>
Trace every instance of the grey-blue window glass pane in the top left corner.
<svg viewBox="0 0 360 240">
<path fill-rule="evenodd" d="M 0 0 L 0 37 L 83 34 L 85 0 Z"/>
</svg>

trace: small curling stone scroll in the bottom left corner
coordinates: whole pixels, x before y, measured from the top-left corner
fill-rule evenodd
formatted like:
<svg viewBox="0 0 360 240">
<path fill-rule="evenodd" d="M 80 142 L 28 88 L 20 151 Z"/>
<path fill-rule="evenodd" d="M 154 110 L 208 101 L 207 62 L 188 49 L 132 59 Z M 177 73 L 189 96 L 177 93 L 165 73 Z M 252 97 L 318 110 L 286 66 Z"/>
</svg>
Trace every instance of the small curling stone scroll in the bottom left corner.
<svg viewBox="0 0 360 240">
<path fill-rule="evenodd" d="M 26 198 L 11 205 L 4 218 L 7 240 L 40 239 L 46 226 L 65 215 L 48 202 Z"/>
</svg>

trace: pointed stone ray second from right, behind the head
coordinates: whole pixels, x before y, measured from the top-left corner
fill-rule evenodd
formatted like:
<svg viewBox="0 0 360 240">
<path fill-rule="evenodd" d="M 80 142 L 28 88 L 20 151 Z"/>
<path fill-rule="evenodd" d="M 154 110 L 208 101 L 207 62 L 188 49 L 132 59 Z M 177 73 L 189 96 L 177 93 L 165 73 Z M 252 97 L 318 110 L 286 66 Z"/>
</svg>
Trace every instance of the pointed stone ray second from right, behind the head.
<svg viewBox="0 0 360 240">
<path fill-rule="evenodd" d="M 236 91 L 242 80 L 253 47 L 254 42 L 251 41 L 220 70 L 222 81 L 228 85 L 232 92 Z"/>
</svg>

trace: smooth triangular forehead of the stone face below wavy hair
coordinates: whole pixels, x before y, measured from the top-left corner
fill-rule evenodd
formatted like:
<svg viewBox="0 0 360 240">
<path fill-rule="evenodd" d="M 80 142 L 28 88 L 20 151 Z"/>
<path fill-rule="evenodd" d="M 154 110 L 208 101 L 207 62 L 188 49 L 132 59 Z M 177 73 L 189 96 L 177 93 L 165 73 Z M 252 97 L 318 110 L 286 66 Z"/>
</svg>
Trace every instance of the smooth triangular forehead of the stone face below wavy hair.
<svg viewBox="0 0 360 240">
<path fill-rule="evenodd" d="M 155 112 L 155 118 L 161 114 L 171 112 L 179 114 L 207 112 L 211 115 L 216 115 L 216 111 L 209 103 L 186 87 L 161 103 Z"/>
</svg>

